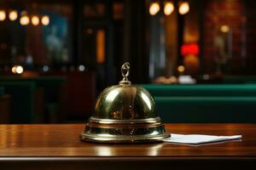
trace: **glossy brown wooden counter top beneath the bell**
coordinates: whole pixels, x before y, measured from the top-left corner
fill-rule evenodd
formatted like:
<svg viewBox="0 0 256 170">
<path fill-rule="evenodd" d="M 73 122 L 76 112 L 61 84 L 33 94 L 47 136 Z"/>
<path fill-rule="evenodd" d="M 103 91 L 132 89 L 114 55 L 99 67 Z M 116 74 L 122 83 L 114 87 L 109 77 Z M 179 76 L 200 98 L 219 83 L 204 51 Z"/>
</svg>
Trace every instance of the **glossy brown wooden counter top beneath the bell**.
<svg viewBox="0 0 256 170">
<path fill-rule="evenodd" d="M 79 169 L 86 164 L 92 169 L 106 166 L 114 169 L 118 165 L 137 162 L 132 165 L 144 167 L 146 163 L 148 169 L 153 162 L 158 162 L 159 165 L 156 163 L 155 166 L 160 167 L 172 161 L 253 163 L 256 160 L 256 124 L 166 124 L 169 133 L 242 135 L 241 141 L 198 146 L 84 143 L 79 140 L 83 129 L 83 124 L 0 125 L 0 167 L 20 169 L 20 165 L 24 165 L 24 169 L 32 169 L 34 165 L 38 169 L 40 164 L 41 169 L 46 169 L 51 164 L 55 167 L 53 169 Z M 236 164 L 232 163 L 233 166 Z M 125 168 L 128 167 L 122 167 Z"/>
</svg>

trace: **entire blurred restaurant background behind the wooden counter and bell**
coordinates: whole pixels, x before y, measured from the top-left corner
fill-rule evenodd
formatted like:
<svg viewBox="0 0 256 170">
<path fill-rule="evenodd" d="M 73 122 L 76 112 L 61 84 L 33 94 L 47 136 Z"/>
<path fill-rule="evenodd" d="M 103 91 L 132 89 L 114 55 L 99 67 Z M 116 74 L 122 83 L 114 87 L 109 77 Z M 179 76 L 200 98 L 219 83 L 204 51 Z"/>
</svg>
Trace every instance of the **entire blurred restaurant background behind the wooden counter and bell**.
<svg viewBox="0 0 256 170">
<path fill-rule="evenodd" d="M 183 105 L 255 111 L 255 9 L 253 0 L 0 0 L 0 123 L 85 122 L 126 61 L 163 117 L 186 116 Z M 176 105 L 181 96 L 188 103 Z M 232 122 L 191 114 L 165 120 Z"/>
</svg>

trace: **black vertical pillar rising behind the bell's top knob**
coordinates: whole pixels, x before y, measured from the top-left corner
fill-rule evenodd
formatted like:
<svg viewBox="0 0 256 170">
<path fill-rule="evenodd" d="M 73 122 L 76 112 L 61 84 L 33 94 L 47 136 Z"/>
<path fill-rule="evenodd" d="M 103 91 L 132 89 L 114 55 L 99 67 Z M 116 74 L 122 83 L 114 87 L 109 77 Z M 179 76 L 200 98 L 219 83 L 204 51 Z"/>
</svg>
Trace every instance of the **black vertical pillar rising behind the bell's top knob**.
<svg viewBox="0 0 256 170">
<path fill-rule="evenodd" d="M 144 0 L 125 0 L 123 62 L 131 64 L 131 81 L 148 82 L 147 8 Z"/>
</svg>

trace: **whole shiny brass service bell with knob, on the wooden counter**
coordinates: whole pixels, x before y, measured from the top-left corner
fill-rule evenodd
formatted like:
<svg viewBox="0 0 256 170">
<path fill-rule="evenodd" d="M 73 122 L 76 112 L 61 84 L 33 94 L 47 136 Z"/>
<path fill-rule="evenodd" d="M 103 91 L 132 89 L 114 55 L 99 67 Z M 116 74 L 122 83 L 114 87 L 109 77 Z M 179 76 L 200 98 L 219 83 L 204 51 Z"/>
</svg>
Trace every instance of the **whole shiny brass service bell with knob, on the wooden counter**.
<svg viewBox="0 0 256 170">
<path fill-rule="evenodd" d="M 131 85 L 130 65 L 121 68 L 119 85 L 106 88 L 96 111 L 80 135 L 83 141 L 103 143 L 154 142 L 170 137 L 156 114 L 154 99 L 144 88 Z"/>
</svg>

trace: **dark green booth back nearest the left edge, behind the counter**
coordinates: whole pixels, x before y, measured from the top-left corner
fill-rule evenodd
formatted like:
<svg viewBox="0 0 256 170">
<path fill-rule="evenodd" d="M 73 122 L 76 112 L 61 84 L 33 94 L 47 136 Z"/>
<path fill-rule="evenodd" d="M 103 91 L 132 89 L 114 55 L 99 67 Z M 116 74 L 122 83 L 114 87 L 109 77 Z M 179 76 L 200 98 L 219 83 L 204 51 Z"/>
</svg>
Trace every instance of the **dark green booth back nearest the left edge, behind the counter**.
<svg viewBox="0 0 256 170">
<path fill-rule="evenodd" d="M 11 123 L 31 123 L 35 119 L 34 113 L 34 82 L 6 82 L 0 81 L 5 94 L 11 95 Z"/>
</svg>

